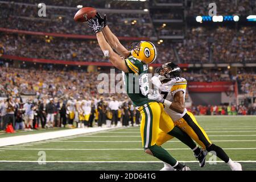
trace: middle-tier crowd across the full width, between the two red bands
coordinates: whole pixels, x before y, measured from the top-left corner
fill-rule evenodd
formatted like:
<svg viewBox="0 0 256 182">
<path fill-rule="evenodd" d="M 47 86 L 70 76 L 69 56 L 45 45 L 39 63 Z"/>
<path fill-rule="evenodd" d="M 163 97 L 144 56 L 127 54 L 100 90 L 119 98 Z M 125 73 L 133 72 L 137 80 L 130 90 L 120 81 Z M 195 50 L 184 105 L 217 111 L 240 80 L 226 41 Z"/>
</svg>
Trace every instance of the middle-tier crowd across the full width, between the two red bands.
<svg viewBox="0 0 256 182">
<path fill-rule="evenodd" d="M 0 34 L 0 43 L 8 55 L 53 60 L 106 61 L 95 40 Z M 256 57 L 256 38 L 251 36 L 253 34 L 253 27 L 242 27 L 238 32 L 224 27 L 211 31 L 201 27 L 192 28 L 183 42 L 155 43 L 159 52 L 156 63 L 163 63 L 167 59 L 176 61 L 172 47 L 177 50 L 181 63 L 209 63 L 209 49 L 212 50 L 213 63 L 251 63 Z M 127 48 L 131 44 L 130 41 L 122 43 Z"/>
</svg>

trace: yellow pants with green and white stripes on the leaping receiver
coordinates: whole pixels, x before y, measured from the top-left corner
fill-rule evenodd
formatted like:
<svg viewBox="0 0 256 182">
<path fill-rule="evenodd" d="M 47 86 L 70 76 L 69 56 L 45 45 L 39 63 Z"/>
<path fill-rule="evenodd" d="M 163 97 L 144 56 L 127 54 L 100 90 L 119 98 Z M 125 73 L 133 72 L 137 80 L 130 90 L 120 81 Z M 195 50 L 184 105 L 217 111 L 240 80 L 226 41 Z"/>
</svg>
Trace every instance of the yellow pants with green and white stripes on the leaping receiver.
<svg viewBox="0 0 256 182">
<path fill-rule="evenodd" d="M 154 146 L 160 131 L 168 133 L 174 129 L 174 122 L 164 112 L 162 104 L 150 102 L 138 109 L 141 113 L 141 138 L 144 148 Z"/>
</svg>

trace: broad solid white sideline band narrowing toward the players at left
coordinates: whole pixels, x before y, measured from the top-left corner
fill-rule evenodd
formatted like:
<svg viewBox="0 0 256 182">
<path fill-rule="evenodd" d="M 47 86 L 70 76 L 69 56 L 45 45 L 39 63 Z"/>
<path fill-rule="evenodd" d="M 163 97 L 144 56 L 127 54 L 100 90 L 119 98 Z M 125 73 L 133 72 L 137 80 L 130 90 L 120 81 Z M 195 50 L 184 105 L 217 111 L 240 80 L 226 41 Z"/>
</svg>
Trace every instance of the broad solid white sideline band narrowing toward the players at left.
<svg viewBox="0 0 256 182">
<path fill-rule="evenodd" d="M 39 133 L 39 134 L 28 134 L 28 135 L 20 135 L 15 137 L 5 137 L 5 138 L 0 138 L 0 147 L 11 146 L 14 144 L 21 144 L 21 143 L 38 142 L 41 140 L 48 140 L 53 138 L 69 137 L 69 136 L 80 135 L 85 133 L 95 133 L 97 131 L 105 131 L 110 129 L 113 130 L 113 128 L 93 127 L 89 129 L 69 129 L 69 130 L 61 130 L 61 131 L 49 131 L 49 132 Z M 118 127 L 115 127 L 114 129 L 118 129 Z"/>
</svg>

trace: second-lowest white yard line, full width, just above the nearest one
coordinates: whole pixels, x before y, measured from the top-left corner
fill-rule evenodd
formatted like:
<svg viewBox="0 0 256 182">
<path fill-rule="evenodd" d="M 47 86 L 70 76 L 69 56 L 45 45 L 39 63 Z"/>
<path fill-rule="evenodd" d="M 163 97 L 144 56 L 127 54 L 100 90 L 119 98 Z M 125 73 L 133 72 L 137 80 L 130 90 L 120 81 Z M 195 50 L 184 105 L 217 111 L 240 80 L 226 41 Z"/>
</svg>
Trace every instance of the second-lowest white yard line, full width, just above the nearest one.
<svg viewBox="0 0 256 182">
<path fill-rule="evenodd" d="M 3 148 L 0 148 L 3 149 Z M 5 150 L 143 150 L 143 148 L 4 148 Z M 191 150 L 190 148 L 165 148 L 166 150 Z M 256 150 L 256 148 L 223 148 L 224 150 Z"/>
</svg>

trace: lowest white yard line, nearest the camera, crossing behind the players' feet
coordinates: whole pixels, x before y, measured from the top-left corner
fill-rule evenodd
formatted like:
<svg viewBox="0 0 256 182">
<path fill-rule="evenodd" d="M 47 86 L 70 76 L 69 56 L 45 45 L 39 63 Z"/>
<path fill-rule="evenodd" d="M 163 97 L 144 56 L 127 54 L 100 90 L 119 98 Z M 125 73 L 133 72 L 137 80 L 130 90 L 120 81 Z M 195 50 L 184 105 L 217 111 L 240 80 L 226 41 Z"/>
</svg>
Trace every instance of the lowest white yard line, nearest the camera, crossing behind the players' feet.
<svg viewBox="0 0 256 182">
<path fill-rule="evenodd" d="M 198 163 L 197 160 L 181 160 L 180 163 Z M 224 161 L 206 161 L 207 163 L 224 163 Z M 237 160 L 238 163 L 256 163 L 256 160 Z M 0 163 L 38 163 L 37 160 L 0 160 Z M 46 163 L 163 163 L 162 161 L 65 161 L 65 160 L 55 160 L 46 161 Z"/>
</svg>

